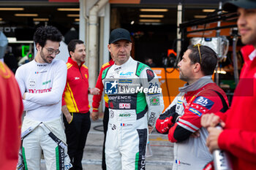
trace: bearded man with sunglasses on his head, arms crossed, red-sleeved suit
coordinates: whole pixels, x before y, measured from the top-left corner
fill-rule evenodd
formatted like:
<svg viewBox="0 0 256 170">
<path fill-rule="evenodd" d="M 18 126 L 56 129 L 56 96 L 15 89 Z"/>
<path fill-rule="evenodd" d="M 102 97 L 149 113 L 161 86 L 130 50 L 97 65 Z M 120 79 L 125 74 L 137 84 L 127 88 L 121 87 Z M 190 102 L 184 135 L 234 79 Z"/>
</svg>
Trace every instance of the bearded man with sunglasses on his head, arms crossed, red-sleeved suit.
<svg viewBox="0 0 256 170">
<path fill-rule="evenodd" d="M 173 170 L 203 169 L 213 158 L 206 147 L 206 128 L 200 118 L 208 112 L 224 112 L 227 96 L 212 80 L 217 54 L 204 45 L 190 45 L 178 63 L 179 77 L 187 82 L 165 112 L 156 128 L 168 134 L 174 144 Z"/>
</svg>

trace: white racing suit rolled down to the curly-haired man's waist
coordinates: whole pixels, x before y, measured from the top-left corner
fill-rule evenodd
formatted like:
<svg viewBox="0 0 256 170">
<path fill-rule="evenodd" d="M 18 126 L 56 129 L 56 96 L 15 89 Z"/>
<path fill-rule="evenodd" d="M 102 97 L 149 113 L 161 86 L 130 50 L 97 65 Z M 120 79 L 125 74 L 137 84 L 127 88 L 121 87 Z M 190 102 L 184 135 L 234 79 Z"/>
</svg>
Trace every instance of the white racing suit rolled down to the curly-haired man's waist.
<svg viewBox="0 0 256 170">
<path fill-rule="evenodd" d="M 64 143 L 66 136 L 61 126 L 61 118 L 41 123 L 25 117 L 21 139 L 26 142 L 20 148 L 17 169 L 40 169 L 42 150 L 47 162 L 46 169 L 70 169 L 72 164 L 67 155 L 67 144 Z"/>
</svg>

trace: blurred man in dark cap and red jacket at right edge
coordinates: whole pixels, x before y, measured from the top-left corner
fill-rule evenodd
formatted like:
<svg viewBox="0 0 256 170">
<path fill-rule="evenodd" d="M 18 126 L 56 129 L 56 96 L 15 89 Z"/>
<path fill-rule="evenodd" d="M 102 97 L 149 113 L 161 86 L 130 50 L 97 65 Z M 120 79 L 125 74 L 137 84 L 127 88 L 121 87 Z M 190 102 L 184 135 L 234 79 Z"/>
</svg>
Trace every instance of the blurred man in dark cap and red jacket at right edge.
<svg viewBox="0 0 256 170">
<path fill-rule="evenodd" d="M 204 115 L 201 123 L 208 128 L 210 152 L 229 152 L 234 170 L 256 169 L 256 1 L 227 1 L 224 9 L 238 12 L 238 31 L 247 45 L 241 49 L 244 67 L 230 109 L 225 114 Z M 224 130 L 215 128 L 219 123 Z"/>
</svg>

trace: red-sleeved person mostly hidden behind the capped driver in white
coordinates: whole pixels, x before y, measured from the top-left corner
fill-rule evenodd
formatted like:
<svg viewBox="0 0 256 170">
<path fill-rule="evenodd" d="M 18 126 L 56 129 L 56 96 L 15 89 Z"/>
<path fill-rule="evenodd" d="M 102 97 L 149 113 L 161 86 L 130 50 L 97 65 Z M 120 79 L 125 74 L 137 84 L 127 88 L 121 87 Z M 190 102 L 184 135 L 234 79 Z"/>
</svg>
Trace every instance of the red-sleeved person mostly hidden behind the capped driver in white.
<svg viewBox="0 0 256 170">
<path fill-rule="evenodd" d="M 95 88 L 99 88 L 99 94 L 94 95 L 92 98 L 92 113 L 91 113 L 91 118 L 92 120 L 98 120 L 99 118 L 99 102 L 102 100 L 102 93 L 103 93 L 103 88 L 104 85 L 102 83 L 102 72 L 107 69 L 108 67 L 112 66 L 115 62 L 111 58 L 110 61 L 102 65 L 102 68 L 99 71 L 99 76 L 95 85 Z M 103 148 L 102 148 L 102 170 L 106 170 L 106 162 L 105 162 L 105 141 L 106 141 L 106 134 L 108 131 L 108 119 L 109 119 L 109 110 L 108 110 L 108 96 L 105 94 L 104 95 L 104 100 L 105 100 L 105 111 L 104 111 L 104 117 L 103 117 L 103 132 L 104 132 L 104 142 L 103 142 Z"/>
</svg>

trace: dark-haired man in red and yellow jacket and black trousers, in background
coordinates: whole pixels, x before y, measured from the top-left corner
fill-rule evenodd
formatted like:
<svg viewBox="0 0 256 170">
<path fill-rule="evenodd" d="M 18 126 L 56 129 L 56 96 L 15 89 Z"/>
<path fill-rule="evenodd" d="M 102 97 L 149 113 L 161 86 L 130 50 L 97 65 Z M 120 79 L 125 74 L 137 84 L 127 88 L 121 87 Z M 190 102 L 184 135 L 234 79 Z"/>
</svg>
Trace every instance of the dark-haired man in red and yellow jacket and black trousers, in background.
<svg viewBox="0 0 256 170">
<path fill-rule="evenodd" d="M 89 88 L 86 46 L 83 41 L 73 39 L 67 46 L 67 82 L 62 96 L 61 110 L 64 114 L 67 152 L 72 163 L 72 170 L 83 169 L 83 148 L 91 128 L 88 94 L 98 94 L 99 89 Z"/>
</svg>

